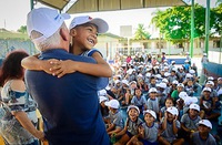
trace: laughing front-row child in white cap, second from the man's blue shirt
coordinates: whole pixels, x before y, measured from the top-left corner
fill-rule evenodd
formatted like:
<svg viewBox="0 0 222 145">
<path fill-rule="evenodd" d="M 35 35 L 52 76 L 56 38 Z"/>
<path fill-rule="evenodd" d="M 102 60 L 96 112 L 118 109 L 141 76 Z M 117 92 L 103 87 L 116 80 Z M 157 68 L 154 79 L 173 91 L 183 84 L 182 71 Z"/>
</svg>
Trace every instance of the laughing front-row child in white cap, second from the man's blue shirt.
<svg viewBox="0 0 222 145">
<path fill-rule="evenodd" d="M 138 127 L 143 123 L 139 117 L 140 110 L 138 106 L 128 106 L 127 113 L 128 118 L 125 126 L 121 132 L 114 135 L 115 137 L 120 137 L 120 139 L 114 145 L 125 145 L 132 136 L 138 135 Z"/>
</svg>

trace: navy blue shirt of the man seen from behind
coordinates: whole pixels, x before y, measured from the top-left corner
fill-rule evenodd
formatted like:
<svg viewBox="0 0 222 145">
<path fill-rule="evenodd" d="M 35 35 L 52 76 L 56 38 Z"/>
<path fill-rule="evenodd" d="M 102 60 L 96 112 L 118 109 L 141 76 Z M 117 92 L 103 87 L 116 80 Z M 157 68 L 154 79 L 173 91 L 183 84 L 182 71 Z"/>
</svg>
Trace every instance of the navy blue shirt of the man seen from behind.
<svg viewBox="0 0 222 145">
<path fill-rule="evenodd" d="M 62 49 L 42 52 L 40 59 L 97 63 L 92 58 L 73 55 Z M 43 71 L 26 72 L 28 91 L 47 121 L 46 135 L 51 144 L 109 144 L 99 110 L 99 82 L 98 77 L 80 72 L 61 79 Z"/>
</svg>

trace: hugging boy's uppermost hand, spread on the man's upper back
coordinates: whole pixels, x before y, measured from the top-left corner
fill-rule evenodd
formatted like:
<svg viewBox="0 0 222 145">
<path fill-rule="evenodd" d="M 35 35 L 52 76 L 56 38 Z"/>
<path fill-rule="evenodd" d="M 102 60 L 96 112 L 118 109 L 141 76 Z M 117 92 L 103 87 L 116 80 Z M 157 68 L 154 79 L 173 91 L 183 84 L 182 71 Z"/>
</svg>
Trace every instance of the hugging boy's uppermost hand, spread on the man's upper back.
<svg viewBox="0 0 222 145">
<path fill-rule="evenodd" d="M 73 61 L 65 60 L 65 61 L 51 61 L 51 64 L 53 64 L 52 68 L 50 68 L 50 71 L 52 71 L 52 75 L 56 75 L 58 77 L 62 77 L 67 73 L 73 73 L 77 70 L 73 69 Z M 71 64 L 71 65 L 70 65 Z"/>
</svg>

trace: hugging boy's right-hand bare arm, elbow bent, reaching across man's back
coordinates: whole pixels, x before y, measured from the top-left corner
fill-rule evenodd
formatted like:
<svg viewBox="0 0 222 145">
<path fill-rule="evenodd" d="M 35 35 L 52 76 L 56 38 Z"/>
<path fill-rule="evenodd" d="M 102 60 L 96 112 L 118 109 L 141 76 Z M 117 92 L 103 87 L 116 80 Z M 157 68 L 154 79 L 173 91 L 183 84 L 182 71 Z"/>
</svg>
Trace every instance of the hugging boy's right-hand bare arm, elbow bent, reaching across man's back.
<svg viewBox="0 0 222 145">
<path fill-rule="evenodd" d="M 61 77 L 67 73 L 73 73 L 75 71 L 94 76 L 112 76 L 112 70 L 110 65 L 102 59 L 99 52 L 94 52 L 92 58 L 98 62 L 97 64 L 71 60 L 56 61 L 52 62 L 56 65 L 53 65 L 51 70 L 53 72 L 53 75 L 57 75 L 58 77 Z"/>
</svg>

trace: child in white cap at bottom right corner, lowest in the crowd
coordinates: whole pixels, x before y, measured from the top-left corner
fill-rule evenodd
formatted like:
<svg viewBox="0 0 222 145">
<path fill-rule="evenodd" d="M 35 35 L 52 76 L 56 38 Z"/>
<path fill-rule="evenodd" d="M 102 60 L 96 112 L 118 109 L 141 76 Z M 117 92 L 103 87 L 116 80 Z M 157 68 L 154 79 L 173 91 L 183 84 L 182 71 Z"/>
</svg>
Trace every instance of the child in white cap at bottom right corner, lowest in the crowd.
<svg viewBox="0 0 222 145">
<path fill-rule="evenodd" d="M 216 145 L 215 138 L 210 134 L 212 124 L 209 120 L 198 123 L 198 132 L 193 133 L 191 141 L 193 145 Z"/>
</svg>

